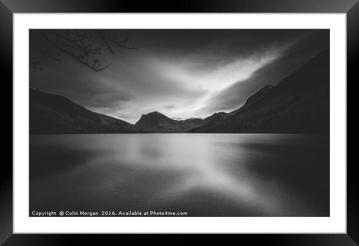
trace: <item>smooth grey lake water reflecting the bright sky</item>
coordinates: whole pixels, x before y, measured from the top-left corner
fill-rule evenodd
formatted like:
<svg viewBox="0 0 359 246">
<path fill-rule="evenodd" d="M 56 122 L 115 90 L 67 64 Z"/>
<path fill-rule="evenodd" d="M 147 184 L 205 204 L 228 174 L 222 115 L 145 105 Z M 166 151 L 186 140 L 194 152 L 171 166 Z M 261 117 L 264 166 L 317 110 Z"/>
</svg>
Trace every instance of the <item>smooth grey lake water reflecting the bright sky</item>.
<svg viewBox="0 0 359 246">
<path fill-rule="evenodd" d="M 329 216 L 329 136 L 30 135 L 30 213 L 48 210 Z"/>
</svg>

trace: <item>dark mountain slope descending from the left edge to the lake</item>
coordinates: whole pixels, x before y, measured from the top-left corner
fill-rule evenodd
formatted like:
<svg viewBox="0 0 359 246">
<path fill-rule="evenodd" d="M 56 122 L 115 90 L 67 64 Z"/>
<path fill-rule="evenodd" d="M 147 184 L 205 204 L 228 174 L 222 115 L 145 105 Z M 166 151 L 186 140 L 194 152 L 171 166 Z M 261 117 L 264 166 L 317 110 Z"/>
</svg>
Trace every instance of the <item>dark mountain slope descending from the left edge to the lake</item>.
<svg viewBox="0 0 359 246">
<path fill-rule="evenodd" d="M 30 134 L 132 133 L 132 124 L 30 88 Z"/>
</svg>

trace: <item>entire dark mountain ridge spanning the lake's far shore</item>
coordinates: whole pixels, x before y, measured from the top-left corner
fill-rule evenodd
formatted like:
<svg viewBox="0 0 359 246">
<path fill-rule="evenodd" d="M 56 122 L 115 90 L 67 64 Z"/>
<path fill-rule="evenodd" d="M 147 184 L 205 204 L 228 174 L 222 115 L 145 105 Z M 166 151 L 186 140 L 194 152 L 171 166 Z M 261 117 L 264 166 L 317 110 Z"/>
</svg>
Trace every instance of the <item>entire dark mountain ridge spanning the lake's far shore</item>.
<svg viewBox="0 0 359 246">
<path fill-rule="evenodd" d="M 133 125 L 70 99 L 29 88 L 30 134 L 65 133 L 328 133 L 329 49 L 277 85 L 265 85 L 232 112 L 168 118 L 153 111 Z"/>
</svg>

